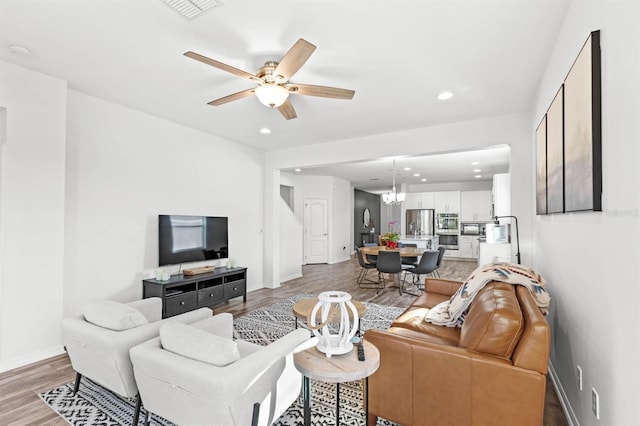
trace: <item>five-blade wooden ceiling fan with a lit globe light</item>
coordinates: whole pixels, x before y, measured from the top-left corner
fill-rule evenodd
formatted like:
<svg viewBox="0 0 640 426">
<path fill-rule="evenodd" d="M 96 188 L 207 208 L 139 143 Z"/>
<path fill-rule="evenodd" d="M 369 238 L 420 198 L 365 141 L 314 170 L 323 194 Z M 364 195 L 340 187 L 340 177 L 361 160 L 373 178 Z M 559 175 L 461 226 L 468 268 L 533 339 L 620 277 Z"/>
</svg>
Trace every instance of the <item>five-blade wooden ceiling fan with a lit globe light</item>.
<svg viewBox="0 0 640 426">
<path fill-rule="evenodd" d="M 316 46 L 301 38 L 284 54 L 280 62 L 265 62 L 255 75 L 195 52 L 185 52 L 184 56 L 258 84 L 257 87 L 213 100 L 209 102 L 209 105 L 219 106 L 255 94 L 262 104 L 271 108 L 278 108 L 284 118 L 291 120 L 297 117 L 296 111 L 289 100 L 289 94 L 291 93 L 333 99 L 352 99 L 356 93 L 354 90 L 339 89 L 337 87 L 289 82 L 289 79 L 307 62 L 314 50 L 316 50 Z"/>
</svg>

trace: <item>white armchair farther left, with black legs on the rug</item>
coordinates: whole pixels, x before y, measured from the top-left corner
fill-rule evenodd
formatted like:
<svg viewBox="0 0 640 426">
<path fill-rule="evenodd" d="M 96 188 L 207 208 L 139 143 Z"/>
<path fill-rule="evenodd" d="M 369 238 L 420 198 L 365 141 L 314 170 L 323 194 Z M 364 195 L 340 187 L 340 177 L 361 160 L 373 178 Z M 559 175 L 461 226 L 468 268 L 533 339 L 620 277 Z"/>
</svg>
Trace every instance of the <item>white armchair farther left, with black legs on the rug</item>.
<svg viewBox="0 0 640 426">
<path fill-rule="evenodd" d="M 158 297 L 127 304 L 98 301 L 90 305 L 94 307 L 93 318 L 87 307 L 85 315 L 62 320 L 63 344 L 77 373 L 74 392 L 78 391 L 80 380 L 85 376 L 121 396 L 136 398 L 135 425 L 141 401 L 129 349 L 158 336 L 160 327 L 169 321 L 192 323 L 211 317 L 213 312 L 201 308 L 162 320 L 162 299 Z M 87 319 L 104 324 L 96 325 Z"/>
</svg>

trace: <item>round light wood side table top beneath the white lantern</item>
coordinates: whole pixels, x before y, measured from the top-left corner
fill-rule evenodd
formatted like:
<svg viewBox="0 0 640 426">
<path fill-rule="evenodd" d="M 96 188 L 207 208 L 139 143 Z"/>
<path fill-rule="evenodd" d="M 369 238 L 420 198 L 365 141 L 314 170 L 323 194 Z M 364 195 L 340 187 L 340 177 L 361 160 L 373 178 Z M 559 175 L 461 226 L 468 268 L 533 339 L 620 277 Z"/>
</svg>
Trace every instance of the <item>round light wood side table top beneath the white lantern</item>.
<svg viewBox="0 0 640 426">
<path fill-rule="evenodd" d="M 380 366 L 380 351 L 373 343 L 364 341 L 364 361 L 358 361 L 357 345 L 344 355 L 330 358 L 315 346 L 293 355 L 293 363 L 304 376 L 328 383 L 344 383 L 364 379 Z"/>
</svg>

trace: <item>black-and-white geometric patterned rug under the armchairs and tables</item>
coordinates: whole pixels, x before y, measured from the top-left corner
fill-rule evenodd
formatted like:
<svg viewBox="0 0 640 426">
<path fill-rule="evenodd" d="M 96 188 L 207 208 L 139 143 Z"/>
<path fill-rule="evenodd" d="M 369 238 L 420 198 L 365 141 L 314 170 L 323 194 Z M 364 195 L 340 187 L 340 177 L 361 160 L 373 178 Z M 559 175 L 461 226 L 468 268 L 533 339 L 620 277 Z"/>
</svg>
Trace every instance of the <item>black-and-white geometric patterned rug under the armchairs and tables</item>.
<svg viewBox="0 0 640 426">
<path fill-rule="evenodd" d="M 314 295 L 297 295 L 281 300 L 267 308 L 258 309 L 235 318 L 234 337 L 259 345 L 268 345 L 295 329 L 293 304 Z M 361 318 L 361 331 L 369 329 L 385 330 L 404 309 L 366 303 L 365 314 Z M 305 327 L 299 323 L 298 327 Z M 64 418 L 76 426 L 131 426 L 134 401 L 122 398 L 101 386 L 83 378 L 80 390 L 73 395 L 73 383 L 43 392 L 40 398 Z M 311 381 L 311 424 L 314 426 L 335 425 L 336 387 L 334 383 Z M 140 422 L 144 419 L 144 408 Z M 150 424 L 173 426 L 173 423 L 156 415 L 150 416 Z M 302 395 L 289 409 L 276 420 L 276 426 L 302 425 Z M 354 381 L 340 384 L 340 425 L 364 426 L 362 408 L 362 382 Z M 395 423 L 378 420 L 379 426 L 394 426 Z M 226 425 L 220 425 L 226 426 Z"/>
</svg>

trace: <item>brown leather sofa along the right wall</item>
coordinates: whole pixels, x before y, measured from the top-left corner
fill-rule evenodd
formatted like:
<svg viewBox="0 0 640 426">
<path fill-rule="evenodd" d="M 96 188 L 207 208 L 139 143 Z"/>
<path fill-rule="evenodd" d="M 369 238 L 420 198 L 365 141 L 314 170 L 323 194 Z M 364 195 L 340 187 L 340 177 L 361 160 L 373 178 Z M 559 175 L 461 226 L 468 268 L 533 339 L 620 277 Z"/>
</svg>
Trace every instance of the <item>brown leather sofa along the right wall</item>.
<svg viewBox="0 0 640 426">
<path fill-rule="evenodd" d="M 369 377 L 367 424 L 542 425 L 549 325 L 523 286 L 493 281 L 462 328 L 423 320 L 457 281 L 426 279 L 425 292 L 386 330 L 365 340 L 380 350 Z"/>
</svg>

